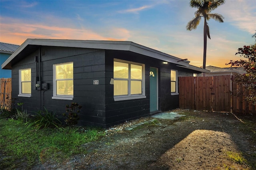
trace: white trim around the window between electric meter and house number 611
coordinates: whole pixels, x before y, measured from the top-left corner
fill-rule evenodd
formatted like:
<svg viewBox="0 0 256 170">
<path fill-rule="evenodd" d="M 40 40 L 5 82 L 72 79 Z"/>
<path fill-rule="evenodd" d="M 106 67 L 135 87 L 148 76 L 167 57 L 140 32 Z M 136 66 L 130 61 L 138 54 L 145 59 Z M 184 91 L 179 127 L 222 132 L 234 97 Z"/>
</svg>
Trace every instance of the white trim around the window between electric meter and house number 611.
<svg viewBox="0 0 256 170">
<path fill-rule="evenodd" d="M 52 65 L 53 69 L 53 79 L 52 79 L 52 99 L 60 99 L 60 100 L 73 100 L 74 95 L 56 95 L 56 65 L 62 65 L 62 64 L 69 64 L 73 62 L 67 62 L 67 63 L 58 63 Z M 73 63 L 73 71 L 74 71 L 74 63 Z M 73 73 L 74 76 L 74 73 Z M 73 85 L 74 85 L 74 78 L 73 78 Z"/>
</svg>

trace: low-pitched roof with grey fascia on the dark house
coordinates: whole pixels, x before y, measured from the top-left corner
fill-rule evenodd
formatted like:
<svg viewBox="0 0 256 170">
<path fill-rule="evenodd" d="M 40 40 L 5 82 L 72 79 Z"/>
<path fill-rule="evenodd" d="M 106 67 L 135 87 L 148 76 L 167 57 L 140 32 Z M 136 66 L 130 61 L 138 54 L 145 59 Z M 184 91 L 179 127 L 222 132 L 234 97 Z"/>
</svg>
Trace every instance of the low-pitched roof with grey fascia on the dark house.
<svg viewBox="0 0 256 170">
<path fill-rule="evenodd" d="M 32 50 L 38 49 L 40 46 L 56 46 L 56 47 L 80 47 L 93 49 L 110 49 L 132 51 L 156 59 L 161 59 L 170 63 L 176 63 L 188 69 L 208 73 L 206 69 L 192 67 L 190 61 L 174 57 L 172 55 L 162 53 L 155 49 L 145 47 L 143 45 L 128 41 L 96 41 L 96 40 L 56 40 L 56 39 L 27 39 L 20 47 L 2 64 L 2 69 L 12 69 L 12 64 L 18 62 L 24 56 L 28 55 Z"/>
</svg>

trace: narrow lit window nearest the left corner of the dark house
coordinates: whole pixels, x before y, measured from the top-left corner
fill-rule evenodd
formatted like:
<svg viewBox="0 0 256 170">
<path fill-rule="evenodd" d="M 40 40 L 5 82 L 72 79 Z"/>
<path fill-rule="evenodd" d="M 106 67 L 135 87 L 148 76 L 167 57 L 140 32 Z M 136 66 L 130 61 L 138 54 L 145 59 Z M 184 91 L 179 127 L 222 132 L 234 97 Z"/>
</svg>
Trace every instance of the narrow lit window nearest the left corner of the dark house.
<svg viewBox="0 0 256 170">
<path fill-rule="evenodd" d="M 31 68 L 19 70 L 19 95 L 31 97 Z"/>
</svg>

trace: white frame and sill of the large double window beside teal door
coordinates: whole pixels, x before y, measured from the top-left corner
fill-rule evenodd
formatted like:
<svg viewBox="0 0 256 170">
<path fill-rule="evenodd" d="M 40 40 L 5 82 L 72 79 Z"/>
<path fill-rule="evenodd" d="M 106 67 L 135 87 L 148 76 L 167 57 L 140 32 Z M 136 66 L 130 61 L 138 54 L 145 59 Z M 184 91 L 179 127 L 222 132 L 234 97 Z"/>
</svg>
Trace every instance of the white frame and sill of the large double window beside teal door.
<svg viewBox="0 0 256 170">
<path fill-rule="evenodd" d="M 114 96 L 114 101 L 124 101 L 124 100 L 133 100 L 133 99 L 144 99 L 144 98 L 146 98 L 146 95 L 145 95 L 145 64 L 136 63 L 136 62 L 132 62 L 132 61 L 126 61 L 126 60 L 122 60 L 122 59 L 115 59 L 115 58 L 114 58 L 114 61 L 142 66 L 142 94 L 130 95 L 130 88 L 128 86 L 128 95 Z M 128 79 L 128 81 L 131 81 L 131 79 Z"/>
</svg>

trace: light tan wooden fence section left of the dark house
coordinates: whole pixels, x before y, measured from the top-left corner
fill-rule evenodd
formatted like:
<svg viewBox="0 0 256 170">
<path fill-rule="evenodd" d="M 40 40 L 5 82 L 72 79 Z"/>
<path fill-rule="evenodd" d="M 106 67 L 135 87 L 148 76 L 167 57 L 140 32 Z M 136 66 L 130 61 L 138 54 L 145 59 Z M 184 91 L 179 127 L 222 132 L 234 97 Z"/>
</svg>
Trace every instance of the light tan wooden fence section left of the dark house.
<svg viewBox="0 0 256 170">
<path fill-rule="evenodd" d="M 1 109 L 11 109 L 11 93 L 12 93 L 12 79 L 0 79 L 0 104 Z"/>
</svg>

